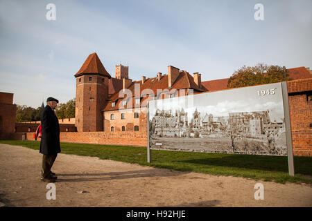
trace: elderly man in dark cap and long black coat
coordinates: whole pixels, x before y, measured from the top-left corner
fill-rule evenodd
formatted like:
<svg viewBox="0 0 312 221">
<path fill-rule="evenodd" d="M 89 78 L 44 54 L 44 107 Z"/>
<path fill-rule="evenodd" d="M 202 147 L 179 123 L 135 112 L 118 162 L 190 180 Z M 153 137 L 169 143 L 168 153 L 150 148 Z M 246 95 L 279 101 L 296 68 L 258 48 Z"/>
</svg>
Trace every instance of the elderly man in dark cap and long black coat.
<svg viewBox="0 0 312 221">
<path fill-rule="evenodd" d="M 58 106 L 58 100 L 53 97 L 46 99 L 46 106 L 40 115 L 42 137 L 40 142 L 40 153 L 42 157 L 42 177 L 44 182 L 55 182 L 58 178 L 51 172 L 51 167 L 60 153 L 60 126 L 58 117 L 54 110 Z"/>
</svg>

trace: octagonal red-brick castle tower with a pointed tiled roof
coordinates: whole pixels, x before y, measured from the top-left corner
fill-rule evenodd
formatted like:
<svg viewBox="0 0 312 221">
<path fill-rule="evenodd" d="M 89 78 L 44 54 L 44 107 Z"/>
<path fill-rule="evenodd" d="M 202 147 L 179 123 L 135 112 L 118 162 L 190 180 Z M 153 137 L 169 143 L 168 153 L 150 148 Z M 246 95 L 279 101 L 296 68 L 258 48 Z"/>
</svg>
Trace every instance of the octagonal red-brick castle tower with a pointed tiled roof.
<svg viewBox="0 0 312 221">
<path fill-rule="evenodd" d="M 96 53 L 87 57 L 76 77 L 76 114 L 75 126 L 78 132 L 103 131 L 101 110 L 108 98 L 108 79 Z"/>
</svg>

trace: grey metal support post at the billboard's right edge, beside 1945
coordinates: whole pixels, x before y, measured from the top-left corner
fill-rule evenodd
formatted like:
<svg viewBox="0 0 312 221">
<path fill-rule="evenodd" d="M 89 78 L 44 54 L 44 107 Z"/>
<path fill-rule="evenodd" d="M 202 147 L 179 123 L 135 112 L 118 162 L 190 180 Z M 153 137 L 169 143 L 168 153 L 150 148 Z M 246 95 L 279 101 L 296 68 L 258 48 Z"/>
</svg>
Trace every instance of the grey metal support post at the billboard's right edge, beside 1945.
<svg viewBox="0 0 312 221">
<path fill-rule="evenodd" d="M 288 88 L 287 82 L 281 82 L 281 91 L 283 94 L 284 116 L 285 116 L 285 131 L 286 131 L 286 144 L 287 144 L 287 157 L 288 157 L 288 173 L 291 176 L 295 175 L 295 166 L 293 164 L 293 139 L 291 136 L 291 116 L 289 114 L 288 102 Z"/>
</svg>

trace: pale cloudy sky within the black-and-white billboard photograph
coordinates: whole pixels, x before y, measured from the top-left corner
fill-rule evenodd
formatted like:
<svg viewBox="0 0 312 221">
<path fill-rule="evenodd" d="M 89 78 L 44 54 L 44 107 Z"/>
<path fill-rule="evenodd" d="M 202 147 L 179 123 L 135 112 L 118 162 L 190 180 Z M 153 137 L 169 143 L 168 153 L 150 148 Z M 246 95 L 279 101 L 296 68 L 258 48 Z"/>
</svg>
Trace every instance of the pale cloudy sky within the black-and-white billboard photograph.
<svg viewBox="0 0 312 221">
<path fill-rule="evenodd" d="M 265 93 L 261 94 L 261 91 Z M 283 122 L 284 106 L 281 92 L 281 83 L 266 84 L 230 90 L 220 90 L 211 93 L 200 93 L 170 99 L 157 99 L 149 102 L 149 119 L 153 119 L 156 110 L 183 110 L 187 113 L 190 122 L 193 113 L 198 111 L 200 117 L 206 114 L 214 117 L 228 117 L 229 113 L 269 111 L 271 122 Z"/>
</svg>

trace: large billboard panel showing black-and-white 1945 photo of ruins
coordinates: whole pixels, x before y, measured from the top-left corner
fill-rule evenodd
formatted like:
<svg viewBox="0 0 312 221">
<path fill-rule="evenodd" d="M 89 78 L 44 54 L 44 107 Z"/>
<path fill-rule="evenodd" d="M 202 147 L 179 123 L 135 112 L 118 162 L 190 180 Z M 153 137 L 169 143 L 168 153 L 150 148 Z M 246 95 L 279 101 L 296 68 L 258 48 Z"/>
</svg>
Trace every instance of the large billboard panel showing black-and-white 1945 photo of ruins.
<svg viewBox="0 0 312 221">
<path fill-rule="evenodd" d="M 149 147 L 287 155 L 281 83 L 149 102 Z"/>
</svg>

